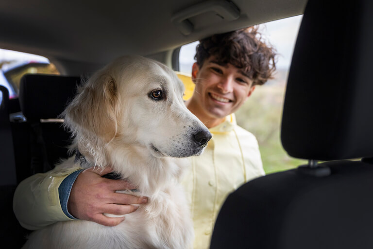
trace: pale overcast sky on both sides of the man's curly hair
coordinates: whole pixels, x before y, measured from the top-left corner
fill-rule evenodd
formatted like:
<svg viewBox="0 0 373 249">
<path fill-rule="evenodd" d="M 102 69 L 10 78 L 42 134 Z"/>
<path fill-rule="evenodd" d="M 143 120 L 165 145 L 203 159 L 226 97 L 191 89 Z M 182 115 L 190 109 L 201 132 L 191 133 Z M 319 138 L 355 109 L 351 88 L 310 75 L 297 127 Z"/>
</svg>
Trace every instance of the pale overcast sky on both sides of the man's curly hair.
<svg viewBox="0 0 373 249">
<path fill-rule="evenodd" d="M 263 37 L 277 50 L 276 68 L 278 69 L 287 70 L 290 67 L 291 56 L 302 17 L 301 15 L 285 18 L 260 25 L 259 31 Z M 182 47 L 180 51 L 180 71 L 190 73 L 197 44 L 198 42 L 193 42 Z"/>
</svg>

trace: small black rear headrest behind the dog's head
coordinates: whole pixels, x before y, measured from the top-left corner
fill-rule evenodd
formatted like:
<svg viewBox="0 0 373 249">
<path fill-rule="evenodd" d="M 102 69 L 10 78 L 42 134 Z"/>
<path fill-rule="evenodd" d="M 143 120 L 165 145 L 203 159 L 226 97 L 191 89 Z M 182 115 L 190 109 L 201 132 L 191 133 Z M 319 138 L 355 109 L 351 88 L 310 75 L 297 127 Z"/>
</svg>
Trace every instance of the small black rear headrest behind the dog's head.
<svg viewBox="0 0 373 249">
<path fill-rule="evenodd" d="M 72 100 L 80 77 L 26 74 L 19 88 L 19 104 L 28 120 L 57 118 Z"/>
</svg>

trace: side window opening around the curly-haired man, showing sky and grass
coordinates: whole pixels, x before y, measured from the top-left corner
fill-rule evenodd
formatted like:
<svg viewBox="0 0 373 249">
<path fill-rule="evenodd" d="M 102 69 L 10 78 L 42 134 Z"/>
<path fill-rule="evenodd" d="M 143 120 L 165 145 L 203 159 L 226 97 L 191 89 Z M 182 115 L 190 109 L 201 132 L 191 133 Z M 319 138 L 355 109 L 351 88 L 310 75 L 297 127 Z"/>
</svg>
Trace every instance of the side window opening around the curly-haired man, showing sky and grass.
<svg viewBox="0 0 373 249">
<path fill-rule="evenodd" d="M 276 72 L 273 79 L 263 86 L 256 87 L 246 103 L 235 113 L 237 124 L 252 132 L 257 138 L 267 174 L 306 164 L 305 160 L 290 158 L 280 141 L 285 87 L 302 17 L 301 15 L 285 18 L 260 25 L 259 30 L 263 38 L 277 50 Z M 198 44 L 197 41 L 181 47 L 180 72 L 190 75 Z"/>
</svg>

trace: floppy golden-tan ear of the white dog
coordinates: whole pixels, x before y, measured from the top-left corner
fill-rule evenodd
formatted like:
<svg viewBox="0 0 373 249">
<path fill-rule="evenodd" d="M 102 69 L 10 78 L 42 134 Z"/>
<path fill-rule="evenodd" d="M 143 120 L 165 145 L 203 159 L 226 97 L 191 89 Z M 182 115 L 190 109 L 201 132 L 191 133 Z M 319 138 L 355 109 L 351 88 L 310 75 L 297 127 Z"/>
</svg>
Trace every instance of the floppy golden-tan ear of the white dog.
<svg viewBox="0 0 373 249">
<path fill-rule="evenodd" d="M 110 142 L 118 130 L 119 92 L 115 79 L 108 74 L 94 75 L 78 92 L 64 112 L 67 125 L 75 134 L 80 129 L 104 143 Z"/>
</svg>

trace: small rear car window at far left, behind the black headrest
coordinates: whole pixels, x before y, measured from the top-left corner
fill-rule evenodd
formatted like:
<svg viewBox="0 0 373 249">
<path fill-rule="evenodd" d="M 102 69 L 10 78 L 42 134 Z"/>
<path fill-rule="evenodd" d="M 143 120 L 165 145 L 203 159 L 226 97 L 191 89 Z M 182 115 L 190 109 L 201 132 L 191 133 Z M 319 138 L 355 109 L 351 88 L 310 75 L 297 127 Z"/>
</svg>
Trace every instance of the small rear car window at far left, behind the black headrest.
<svg viewBox="0 0 373 249">
<path fill-rule="evenodd" d="M 9 98 L 17 98 L 19 84 L 26 73 L 59 74 L 50 61 L 40 55 L 0 49 L 0 85 L 9 91 Z"/>
</svg>

